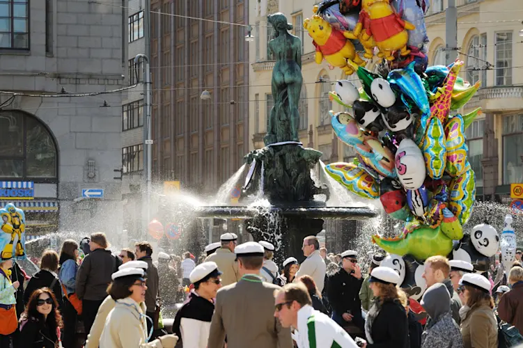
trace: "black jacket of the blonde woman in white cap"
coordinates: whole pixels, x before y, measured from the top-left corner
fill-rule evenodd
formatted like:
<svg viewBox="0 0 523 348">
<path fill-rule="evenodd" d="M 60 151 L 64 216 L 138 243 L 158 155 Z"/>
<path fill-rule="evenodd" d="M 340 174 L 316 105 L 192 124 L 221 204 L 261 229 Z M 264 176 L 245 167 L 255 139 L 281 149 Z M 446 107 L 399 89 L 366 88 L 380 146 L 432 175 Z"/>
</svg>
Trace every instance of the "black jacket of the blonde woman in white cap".
<svg viewBox="0 0 523 348">
<path fill-rule="evenodd" d="M 376 299 L 377 301 L 377 299 Z M 409 323 L 399 301 L 385 301 L 371 329 L 374 343 L 368 348 L 408 348 Z"/>
</svg>

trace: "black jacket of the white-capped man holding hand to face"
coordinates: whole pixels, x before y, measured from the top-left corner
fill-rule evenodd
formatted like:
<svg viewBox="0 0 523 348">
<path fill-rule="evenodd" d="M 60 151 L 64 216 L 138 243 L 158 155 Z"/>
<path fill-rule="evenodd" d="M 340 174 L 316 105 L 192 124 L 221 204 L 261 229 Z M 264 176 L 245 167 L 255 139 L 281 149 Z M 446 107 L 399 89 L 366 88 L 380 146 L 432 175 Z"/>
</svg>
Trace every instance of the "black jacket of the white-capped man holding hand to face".
<svg viewBox="0 0 523 348">
<path fill-rule="evenodd" d="M 359 289 L 363 281 L 363 278 L 357 279 L 348 274 L 343 268 L 329 277 L 327 295 L 332 310 L 336 314 L 342 315 L 350 312 L 354 317 L 361 317 Z"/>
</svg>

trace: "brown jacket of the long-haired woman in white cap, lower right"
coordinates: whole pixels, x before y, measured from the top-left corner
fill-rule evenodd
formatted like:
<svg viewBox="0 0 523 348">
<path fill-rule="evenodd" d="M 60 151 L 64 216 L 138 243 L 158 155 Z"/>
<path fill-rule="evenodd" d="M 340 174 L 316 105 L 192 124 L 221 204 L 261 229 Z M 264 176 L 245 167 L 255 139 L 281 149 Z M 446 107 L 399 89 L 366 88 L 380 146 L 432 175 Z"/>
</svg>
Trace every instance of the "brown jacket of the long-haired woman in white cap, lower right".
<svg viewBox="0 0 523 348">
<path fill-rule="evenodd" d="M 487 302 L 460 310 L 461 335 L 465 348 L 497 348 L 497 320 Z"/>
</svg>

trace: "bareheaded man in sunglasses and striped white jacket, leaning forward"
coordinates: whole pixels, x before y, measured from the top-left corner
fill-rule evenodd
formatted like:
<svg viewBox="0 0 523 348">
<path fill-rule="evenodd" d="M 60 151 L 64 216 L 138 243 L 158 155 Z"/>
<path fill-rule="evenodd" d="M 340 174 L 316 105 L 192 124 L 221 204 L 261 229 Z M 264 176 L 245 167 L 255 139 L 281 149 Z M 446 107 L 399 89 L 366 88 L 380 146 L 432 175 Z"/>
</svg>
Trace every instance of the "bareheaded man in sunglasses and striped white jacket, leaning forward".
<svg viewBox="0 0 523 348">
<path fill-rule="evenodd" d="M 274 317 L 284 328 L 297 329 L 299 348 L 356 348 L 356 342 L 334 320 L 315 310 L 302 283 L 290 283 L 274 291 Z"/>
</svg>

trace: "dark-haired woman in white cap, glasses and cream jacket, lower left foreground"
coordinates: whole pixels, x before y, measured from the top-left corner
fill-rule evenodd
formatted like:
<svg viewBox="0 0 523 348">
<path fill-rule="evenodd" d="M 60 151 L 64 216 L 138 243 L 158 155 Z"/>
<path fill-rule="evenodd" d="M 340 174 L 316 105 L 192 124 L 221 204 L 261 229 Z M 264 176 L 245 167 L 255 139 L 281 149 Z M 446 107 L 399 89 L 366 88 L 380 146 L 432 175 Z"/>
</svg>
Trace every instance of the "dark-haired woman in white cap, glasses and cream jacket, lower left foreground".
<svg viewBox="0 0 523 348">
<path fill-rule="evenodd" d="M 147 290 L 144 276 L 143 269 L 128 267 L 111 276 L 113 282 L 107 293 L 116 304 L 104 322 L 100 348 L 173 348 L 178 342 L 175 335 L 148 342 L 152 330 L 146 332 L 150 318 L 146 317 L 143 305 Z"/>
</svg>

